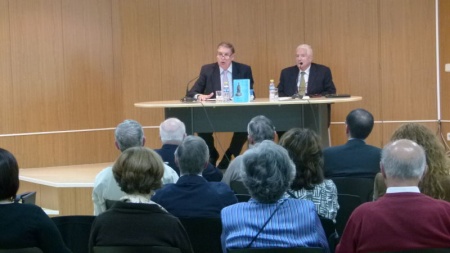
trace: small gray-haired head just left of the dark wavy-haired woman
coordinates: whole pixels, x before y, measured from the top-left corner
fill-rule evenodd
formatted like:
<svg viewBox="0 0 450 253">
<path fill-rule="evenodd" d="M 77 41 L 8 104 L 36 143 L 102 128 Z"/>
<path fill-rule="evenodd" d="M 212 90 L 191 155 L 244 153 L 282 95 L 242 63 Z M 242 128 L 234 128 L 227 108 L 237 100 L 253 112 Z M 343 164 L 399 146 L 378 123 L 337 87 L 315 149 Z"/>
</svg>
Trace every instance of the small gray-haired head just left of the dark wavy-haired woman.
<svg viewBox="0 0 450 253">
<path fill-rule="evenodd" d="M 259 143 L 264 140 L 274 140 L 275 127 L 272 121 L 264 115 L 253 117 L 247 125 L 249 138 L 253 143 Z"/>
</svg>

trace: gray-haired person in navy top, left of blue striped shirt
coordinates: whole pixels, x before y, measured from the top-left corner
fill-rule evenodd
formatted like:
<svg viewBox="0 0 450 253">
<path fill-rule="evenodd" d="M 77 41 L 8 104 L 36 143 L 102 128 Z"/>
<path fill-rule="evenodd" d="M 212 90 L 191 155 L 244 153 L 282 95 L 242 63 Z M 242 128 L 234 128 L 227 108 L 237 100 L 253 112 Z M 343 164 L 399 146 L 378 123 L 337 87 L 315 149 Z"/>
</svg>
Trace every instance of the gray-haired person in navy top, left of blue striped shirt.
<svg viewBox="0 0 450 253">
<path fill-rule="evenodd" d="M 186 137 L 175 152 L 180 179 L 156 191 L 152 200 L 177 217 L 220 217 L 222 208 L 237 199 L 228 185 L 208 182 L 201 176 L 208 160 L 205 141 L 197 136 Z"/>
</svg>

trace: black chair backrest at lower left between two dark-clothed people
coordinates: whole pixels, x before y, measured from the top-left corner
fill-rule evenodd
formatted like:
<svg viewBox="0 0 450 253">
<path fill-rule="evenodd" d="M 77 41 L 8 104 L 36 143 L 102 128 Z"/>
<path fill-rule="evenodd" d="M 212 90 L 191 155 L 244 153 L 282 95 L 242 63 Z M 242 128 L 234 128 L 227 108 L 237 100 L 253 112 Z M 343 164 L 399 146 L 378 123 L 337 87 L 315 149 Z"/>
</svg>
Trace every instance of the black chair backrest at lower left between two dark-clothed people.
<svg viewBox="0 0 450 253">
<path fill-rule="evenodd" d="M 89 236 L 93 215 L 69 215 L 51 218 L 58 227 L 66 246 L 73 253 L 89 252 Z"/>
</svg>

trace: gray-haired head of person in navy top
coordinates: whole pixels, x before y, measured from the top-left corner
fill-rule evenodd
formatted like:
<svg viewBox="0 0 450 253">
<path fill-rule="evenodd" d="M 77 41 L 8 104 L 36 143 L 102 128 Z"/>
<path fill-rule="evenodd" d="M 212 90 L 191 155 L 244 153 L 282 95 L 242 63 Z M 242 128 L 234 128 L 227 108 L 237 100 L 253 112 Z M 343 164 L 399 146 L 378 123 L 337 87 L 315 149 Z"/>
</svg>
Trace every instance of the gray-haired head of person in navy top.
<svg viewBox="0 0 450 253">
<path fill-rule="evenodd" d="M 181 175 L 201 174 L 208 160 L 208 146 L 198 136 L 187 136 L 175 151 L 175 161 L 178 163 Z"/>
</svg>

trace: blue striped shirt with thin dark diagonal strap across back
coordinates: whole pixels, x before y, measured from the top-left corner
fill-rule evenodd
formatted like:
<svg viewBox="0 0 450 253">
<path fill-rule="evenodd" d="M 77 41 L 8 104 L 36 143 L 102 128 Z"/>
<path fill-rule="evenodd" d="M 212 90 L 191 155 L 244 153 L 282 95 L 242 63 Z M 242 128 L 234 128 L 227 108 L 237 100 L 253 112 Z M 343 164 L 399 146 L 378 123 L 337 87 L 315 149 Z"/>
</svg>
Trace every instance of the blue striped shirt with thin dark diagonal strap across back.
<svg viewBox="0 0 450 253">
<path fill-rule="evenodd" d="M 272 219 L 251 248 L 322 247 L 328 243 L 314 204 L 308 200 L 282 198 L 264 204 L 254 199 L 222 210 L 222 247 L 246 248 L 277 206 Z"/>
</svg>

